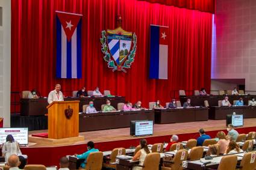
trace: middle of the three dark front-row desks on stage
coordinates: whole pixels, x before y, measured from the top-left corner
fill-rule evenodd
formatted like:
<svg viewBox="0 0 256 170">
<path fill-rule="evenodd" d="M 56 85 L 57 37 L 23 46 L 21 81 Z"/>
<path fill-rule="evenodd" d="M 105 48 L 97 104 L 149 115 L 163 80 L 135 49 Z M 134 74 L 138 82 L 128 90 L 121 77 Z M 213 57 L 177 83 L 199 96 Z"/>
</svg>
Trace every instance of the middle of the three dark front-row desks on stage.
<svg viewBox="0 0 256 170">
<path fill-rule="evenodd" d="M 176 108 L 155 109 L 155 123 L 184 123 L 192 121 L 207 121 L 208 108 Z"/>
</svg>

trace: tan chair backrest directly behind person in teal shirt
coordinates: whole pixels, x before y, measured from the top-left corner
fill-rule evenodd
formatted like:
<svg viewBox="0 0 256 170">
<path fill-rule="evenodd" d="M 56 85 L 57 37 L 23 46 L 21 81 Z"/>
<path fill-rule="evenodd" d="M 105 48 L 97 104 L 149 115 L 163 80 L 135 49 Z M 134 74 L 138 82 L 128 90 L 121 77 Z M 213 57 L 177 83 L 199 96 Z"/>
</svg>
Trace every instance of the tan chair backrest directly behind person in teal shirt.
<svg viewBox="0 0 256 170">
<path fill-rule="evenodd" d="M 103 162 L 103 153 L 90 153 L 87 157 L 86 169 L 101 170 Z"/>
</svg>

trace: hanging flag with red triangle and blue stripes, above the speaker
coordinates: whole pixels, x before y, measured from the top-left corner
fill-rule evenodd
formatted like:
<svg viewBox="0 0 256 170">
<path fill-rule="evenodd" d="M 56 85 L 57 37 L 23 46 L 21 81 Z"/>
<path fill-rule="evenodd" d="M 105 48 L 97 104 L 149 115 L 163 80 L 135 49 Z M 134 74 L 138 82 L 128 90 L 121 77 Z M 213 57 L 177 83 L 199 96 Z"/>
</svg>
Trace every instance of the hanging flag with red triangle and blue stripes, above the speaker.
<svg viewBox="0 0 256 170">
<path fill-rule="evenodd" d="M 56 11 L 57 78 L 81 78 L 81 14 Z"/>
</svg>

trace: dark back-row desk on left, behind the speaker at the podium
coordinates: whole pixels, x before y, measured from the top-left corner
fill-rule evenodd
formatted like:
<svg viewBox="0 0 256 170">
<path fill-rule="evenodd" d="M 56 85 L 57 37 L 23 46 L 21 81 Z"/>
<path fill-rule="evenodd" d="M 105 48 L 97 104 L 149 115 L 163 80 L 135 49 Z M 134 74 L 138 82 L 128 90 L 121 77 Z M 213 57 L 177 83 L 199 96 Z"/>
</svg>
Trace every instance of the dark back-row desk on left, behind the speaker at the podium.
<svg viewBox="0 0 256 170">
<path fill-rule="evenodd" d="M 125 97 L 66 97 L 64 101 L 80 100 L 79 112 L 83 112 L 83 105 L 89 105 L 92 100 L 97 111 L 101 111 L 101 105 L 105 104 L 106 100 L 110 100 L 111 105 L 117 108 L 117 103 L 125 103 Z M 47 98 L 40 99 L 20 99 L 20 115 L 38 116 L 47 114 L 46 106 L 48 106 Z"/>
</svg>

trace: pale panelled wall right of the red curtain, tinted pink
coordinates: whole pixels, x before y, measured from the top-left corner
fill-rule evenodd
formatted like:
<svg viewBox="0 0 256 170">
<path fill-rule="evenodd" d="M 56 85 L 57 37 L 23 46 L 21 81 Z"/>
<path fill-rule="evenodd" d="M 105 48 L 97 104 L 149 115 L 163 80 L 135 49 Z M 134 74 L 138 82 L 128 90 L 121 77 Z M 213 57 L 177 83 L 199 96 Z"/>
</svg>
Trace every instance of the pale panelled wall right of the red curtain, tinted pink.
<svg viewBox="0 0 256 170">
<path fill-rule="evenodd" d="M 211 79 L 245 79 L 256 90 L 256 0 L 216 0 L 214 20 Z"/>
</svg>

